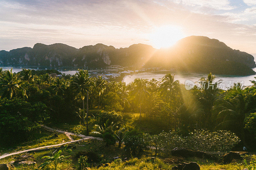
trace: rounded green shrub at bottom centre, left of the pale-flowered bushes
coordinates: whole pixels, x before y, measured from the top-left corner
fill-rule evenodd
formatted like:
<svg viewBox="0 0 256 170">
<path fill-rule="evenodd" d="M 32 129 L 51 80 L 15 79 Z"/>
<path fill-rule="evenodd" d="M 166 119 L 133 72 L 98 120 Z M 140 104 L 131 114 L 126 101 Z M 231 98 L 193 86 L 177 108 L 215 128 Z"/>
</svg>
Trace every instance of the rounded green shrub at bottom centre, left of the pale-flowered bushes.
<svg viewBox="0 0 256 170">
<path fill-rule="evenodd" d="M 127 131 L 124 135 L 125 150 L 136 154 L 142 152 L 148 146 L 146 135 L 138 130 Z"/>
</svg>

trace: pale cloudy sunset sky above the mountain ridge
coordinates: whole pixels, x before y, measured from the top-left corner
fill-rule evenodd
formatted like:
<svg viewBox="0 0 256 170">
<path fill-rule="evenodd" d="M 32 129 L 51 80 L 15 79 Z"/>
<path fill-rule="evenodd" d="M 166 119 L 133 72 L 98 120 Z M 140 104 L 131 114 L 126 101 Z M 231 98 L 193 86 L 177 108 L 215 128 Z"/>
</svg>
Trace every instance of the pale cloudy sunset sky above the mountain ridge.
<svg viewBox="0 0 256 170">
<path fill-rule="evenodd" d="M 202 35 L 256 53 L 256 0 L 0 0 L 0 50 L 64 43 L 155 48 Z"/>
</svg>

